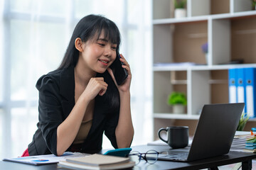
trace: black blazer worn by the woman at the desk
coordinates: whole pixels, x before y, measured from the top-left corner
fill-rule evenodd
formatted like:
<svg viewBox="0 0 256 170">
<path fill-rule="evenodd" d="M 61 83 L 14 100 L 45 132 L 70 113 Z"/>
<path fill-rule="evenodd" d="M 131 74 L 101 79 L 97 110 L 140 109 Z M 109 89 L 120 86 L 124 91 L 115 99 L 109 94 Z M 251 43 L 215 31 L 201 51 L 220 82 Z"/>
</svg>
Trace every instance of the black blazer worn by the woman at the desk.
<svg viewBox="0 0 256 170">
<path fill-rule="evenodd" d="M 105 72 L 104 76 L 110 77 L 110 74 Z M 107 82 L 107 84 L 118 93 L 114 81 Z M 58 125 L 63 123 L 75 106 L 74 67 L 57 69 L 43 75 L 38 79 L 36 88 L 39 91 L 39 122 L 37 124 L 38 130 L 33 135 L 33 141 L 28 145 L 28 153 L 29 155 L 57 155 Z M 110 93 L 109 89 L 108 87 L 106 94 Z M 82 144 L 80 152 L 89 154 L 99 152 L 102 149 L 102 134 L 104 131 L 112 146 L 117 148 L 115 128 L 117 127 L 118 118 L 119 108 L 112 108 L 105 95 L 96 96 L 92 127 Z M 70 150 L 70 147 L 67 151 Z"/>
</svg>

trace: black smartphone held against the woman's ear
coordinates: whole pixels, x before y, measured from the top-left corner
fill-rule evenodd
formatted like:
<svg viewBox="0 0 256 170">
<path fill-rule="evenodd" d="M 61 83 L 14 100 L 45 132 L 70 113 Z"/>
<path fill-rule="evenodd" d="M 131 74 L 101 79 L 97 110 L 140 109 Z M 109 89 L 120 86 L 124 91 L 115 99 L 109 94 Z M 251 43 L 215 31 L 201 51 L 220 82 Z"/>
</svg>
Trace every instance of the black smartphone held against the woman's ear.
<svg viewBox="0 0 256 170">
<path fill-rule="evenodd" d="M 114 74 L 114 79 L 116 79 L 117 84 L 121 85 L 124 83 L 124 80 L 128 77 L 127 69 L 122 67 L 124 63 L 120 61 L 120 55 L 117 51 L 117 57 L 114 62 L 110 65 L 110 69 L 112 69 Z"/>
</svg>

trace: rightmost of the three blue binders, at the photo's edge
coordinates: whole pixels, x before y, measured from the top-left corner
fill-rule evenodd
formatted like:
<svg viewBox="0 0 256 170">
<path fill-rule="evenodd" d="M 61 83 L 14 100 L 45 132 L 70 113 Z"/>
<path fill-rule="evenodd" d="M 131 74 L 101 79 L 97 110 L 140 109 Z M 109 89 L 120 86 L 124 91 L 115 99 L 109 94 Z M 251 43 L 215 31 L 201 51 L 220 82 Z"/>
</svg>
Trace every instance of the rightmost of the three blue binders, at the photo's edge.
<svg viewBox="0 0 256 170">
<path fill-rule="evenodd" d="M 246 94 L 246 107 L 247 114 L 250 118 L 255 118 L 255 107 L 256 107 L 256 69 L 255 68 L 245 68 L 245 94 Z"/>
</svg>

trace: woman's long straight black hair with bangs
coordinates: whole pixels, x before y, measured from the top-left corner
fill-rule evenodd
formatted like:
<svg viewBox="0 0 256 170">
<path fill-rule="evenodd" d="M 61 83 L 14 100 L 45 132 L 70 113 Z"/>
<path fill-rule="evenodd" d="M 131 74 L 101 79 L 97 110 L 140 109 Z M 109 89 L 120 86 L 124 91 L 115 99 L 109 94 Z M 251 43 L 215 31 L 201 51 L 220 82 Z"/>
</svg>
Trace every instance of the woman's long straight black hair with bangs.
<svg viewBox="0 0 256 170">
<path fill-rule="evenodd" d="M 63 61 L 58 69 L 65 69 L 70 66 L 75 67 L 78 63 L 79 51 L 75 48 L 76 38 L 81 38 L 82 42 L 87 42 L 88 40 L 100 38 L 102 31 L 105 33 L 105 39 L 109 40 L 113 44 L 117 44 L 117 51 L 119 51 L 121 35 L 116 24 L 103 16 L 85 16 L 75 26 L 68 48 L 63 57 Z M 104 81 L 109 85 L 107 87 L 107 92 L 102 97 L 108 101 L 110 108 L 116 111 L 116 109 L 119 108 L 119 93 L 117 87 L 114 85 L 112 77 L 110 77 L 110 74 L 107 71 L 102 74 L 97 73 L 97 77 L 104 77 Z"/>
</svg>

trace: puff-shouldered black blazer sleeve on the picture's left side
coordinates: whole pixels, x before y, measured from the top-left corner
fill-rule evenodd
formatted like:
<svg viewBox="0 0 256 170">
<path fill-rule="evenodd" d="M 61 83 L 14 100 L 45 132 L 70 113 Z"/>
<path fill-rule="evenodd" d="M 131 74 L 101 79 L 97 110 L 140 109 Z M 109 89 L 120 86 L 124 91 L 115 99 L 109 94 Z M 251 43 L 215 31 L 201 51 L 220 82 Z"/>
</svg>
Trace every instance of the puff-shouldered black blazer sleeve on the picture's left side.
<svg viewBox="0 0 256 170">
<path fill-rule="evenodd" d="M 43 139 L 52 154 L 57 155 L 57 128 L 63 122 L 60 86 L 57 79 L 44 75 L 36 84 L 39 91 L 39 123 Z"/>
</svg>

